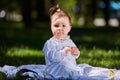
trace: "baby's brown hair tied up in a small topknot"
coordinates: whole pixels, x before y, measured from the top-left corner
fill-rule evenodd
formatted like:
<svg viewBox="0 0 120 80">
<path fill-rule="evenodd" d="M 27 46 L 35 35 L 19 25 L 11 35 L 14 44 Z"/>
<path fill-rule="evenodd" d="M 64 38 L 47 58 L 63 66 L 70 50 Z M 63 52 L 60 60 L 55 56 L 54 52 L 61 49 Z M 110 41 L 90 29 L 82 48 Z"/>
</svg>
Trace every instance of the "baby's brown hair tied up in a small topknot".
<svg viewBox="0 0 120 80">
<path fill-rule="evenodd" d="M 65 16 L 67 16 L 69 21 L 70 21 L 70 25 L 72 25 L 70 16 L 68 15 L 68 13 L 66 11 L 61 10 L 58 4 L 57 5 L 53 5 L 49 9 L 49 15 L 50 15 L 50 18 L 52 18 L 54 15 L 57 15 L 58 17 L 65 17 Z"/>
</svg>

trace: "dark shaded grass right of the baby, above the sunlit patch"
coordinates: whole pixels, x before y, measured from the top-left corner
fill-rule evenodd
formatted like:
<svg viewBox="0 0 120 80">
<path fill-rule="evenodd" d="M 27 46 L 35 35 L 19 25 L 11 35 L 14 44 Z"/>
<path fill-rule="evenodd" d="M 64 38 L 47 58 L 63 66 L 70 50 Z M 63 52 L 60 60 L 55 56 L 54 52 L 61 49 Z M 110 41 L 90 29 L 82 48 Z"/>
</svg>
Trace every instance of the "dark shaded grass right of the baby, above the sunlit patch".
<svg viewBox="0 0 120 80">
<path fill-rule="evenodd" d="M 74 28 L 70 34 L 78 47 L 120 50 L 120 28 Z"/>
</svg>

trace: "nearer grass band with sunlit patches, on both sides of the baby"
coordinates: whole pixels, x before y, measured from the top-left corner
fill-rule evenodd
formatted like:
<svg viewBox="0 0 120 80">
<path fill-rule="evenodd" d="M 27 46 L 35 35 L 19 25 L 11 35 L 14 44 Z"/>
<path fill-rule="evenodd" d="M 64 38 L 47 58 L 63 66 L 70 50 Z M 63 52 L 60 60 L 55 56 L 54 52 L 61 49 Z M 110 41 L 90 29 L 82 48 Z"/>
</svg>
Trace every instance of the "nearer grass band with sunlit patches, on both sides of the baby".
<svg viewBox="0 0 120 80">
<path fill-rule="evenodd" d="M 120 69 L 120 51 L 104 50 L 93 47 L 92 49 L 80 48 L 81 55 L 78 64 L 86 63 L 97 67 Z M 24 64 L 45 64 L 42 50 L 28 47 L 13 47 L 8 49 L 6 55 L 0 57 L 0 63 L 20 66 Z"/>
</svg>

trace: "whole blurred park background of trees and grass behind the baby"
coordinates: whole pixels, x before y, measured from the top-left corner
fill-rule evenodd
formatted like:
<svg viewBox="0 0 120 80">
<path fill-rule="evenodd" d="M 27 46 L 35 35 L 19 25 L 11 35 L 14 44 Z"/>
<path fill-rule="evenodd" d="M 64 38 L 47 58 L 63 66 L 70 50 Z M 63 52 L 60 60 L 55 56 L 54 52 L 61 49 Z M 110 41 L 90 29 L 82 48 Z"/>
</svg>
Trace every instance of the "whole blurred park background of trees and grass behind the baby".
<svg viewBox="0 0 120 80">
<path fill-rule="evenodd" d="M 0 66 L 45 64 L 48 9 L 56 3 L 72 18 L 77 63 L 120 69 L 120 0 L 1 0 Z"/>
</svg>

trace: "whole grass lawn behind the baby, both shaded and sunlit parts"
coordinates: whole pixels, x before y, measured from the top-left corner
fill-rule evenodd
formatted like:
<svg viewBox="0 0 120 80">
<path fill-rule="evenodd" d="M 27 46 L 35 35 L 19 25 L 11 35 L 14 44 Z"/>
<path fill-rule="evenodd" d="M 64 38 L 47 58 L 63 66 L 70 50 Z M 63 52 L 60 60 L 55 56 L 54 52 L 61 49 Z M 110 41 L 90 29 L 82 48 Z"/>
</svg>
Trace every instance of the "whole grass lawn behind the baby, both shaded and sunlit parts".
<svg viewBox="0 0 120 80">
<path fill-rule="evenodd" d="M 77 63 L 120 69 L 119 28 L 73 28 L 71 38 L 81 51 Z M 0 29 L 0 66 L 45 64 L 43 45 L 50 28 Z"/>
</svg>

